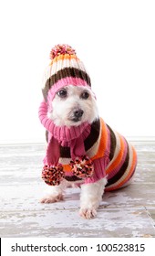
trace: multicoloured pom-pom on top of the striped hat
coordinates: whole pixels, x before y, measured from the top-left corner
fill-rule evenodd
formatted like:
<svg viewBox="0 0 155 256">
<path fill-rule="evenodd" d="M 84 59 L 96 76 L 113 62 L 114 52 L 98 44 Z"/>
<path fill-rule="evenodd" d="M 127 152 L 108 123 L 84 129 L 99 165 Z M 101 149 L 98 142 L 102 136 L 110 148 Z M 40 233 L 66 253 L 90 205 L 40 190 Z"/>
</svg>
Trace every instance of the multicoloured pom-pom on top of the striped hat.
<svg viewBox="0 0 155 256">
<path fill-rule="evenodd" d="M 60 54 L 76 54 L 75 49 L 71 48 L 68 45 L 57 45 L 54 48 L 51 49 L 50 51 L 50 59 L 55 59 L 58 55 Z"/>
</svg>

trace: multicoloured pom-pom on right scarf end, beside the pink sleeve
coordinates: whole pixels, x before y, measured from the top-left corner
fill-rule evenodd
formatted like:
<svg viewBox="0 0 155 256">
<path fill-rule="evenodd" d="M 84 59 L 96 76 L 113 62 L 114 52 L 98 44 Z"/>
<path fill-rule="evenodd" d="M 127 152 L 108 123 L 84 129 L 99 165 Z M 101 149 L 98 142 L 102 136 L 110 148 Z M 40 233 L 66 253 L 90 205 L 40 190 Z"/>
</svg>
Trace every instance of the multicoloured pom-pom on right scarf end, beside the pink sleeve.
<svg viewBox="0 0 155 256">
<path fill-rule="evenodd" d="M 75 161 L 70 161 L 73 175 L 80 178 L 90 177 L 94 172 L 94 165 L 88 156 L 77 157 Z"/>
</svg>

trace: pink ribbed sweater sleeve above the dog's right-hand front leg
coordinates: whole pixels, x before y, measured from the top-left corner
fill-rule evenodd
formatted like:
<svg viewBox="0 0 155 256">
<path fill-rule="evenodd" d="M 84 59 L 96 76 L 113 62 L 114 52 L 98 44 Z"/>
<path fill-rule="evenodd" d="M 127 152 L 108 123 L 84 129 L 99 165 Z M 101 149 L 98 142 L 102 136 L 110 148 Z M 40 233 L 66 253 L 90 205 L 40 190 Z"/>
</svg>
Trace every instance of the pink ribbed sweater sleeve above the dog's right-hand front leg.
<svg viewBox="0 0 155 256">
<path fill-rule="evenodd" d="M 101 157 L 93 161 L 94 174 L 85 179 L 85 184 L 97 182 L 99 179 L 106 176 L 106 166 L 109 164 L 109 157 Z"/>
</svg>

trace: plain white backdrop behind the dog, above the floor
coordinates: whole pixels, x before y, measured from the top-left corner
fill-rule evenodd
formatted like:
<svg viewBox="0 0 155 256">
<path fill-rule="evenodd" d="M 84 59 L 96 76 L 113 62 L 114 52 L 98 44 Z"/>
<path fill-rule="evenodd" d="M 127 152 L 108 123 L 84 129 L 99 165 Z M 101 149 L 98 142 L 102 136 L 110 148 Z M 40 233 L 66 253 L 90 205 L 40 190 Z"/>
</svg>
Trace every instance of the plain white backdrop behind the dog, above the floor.
<svg viewBox="0 0 155 256">
<path fill-rule="evenodd" d="M 0 1 L 0 143 L 42 142 L 37 110 L 49 52 L 76 49 L 100 115 L 129 137 L 155 136 L 155 1 Z"/>
</svg>

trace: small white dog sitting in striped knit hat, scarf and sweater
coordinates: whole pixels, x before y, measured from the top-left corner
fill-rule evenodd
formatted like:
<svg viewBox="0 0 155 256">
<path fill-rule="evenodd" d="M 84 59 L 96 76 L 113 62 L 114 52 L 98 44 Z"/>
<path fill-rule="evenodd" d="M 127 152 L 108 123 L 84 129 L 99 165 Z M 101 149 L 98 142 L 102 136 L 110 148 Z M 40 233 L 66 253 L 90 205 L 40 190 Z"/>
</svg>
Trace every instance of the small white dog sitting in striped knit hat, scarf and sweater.
<svg viewBox="0 0 155 256">
<path fill-rule="evenodd" d="M 39 107 L 40 121 L 47 129 L 42 177 L 49 185 L 49 193 L 40 202 L 63 200 L 68 184 L 78 185 L 81 188 L 79 215 L 92 219 L 97 216 L 104 191 L 129 185 L 137 154 L 122 135 L 99 117 L 89 77 L 84 77 L 87 72 L 81 62 L 79 65 L 75 51 L 67 45 L 57 45 L 51 55 L 44 101 Z"/>
</svg>

